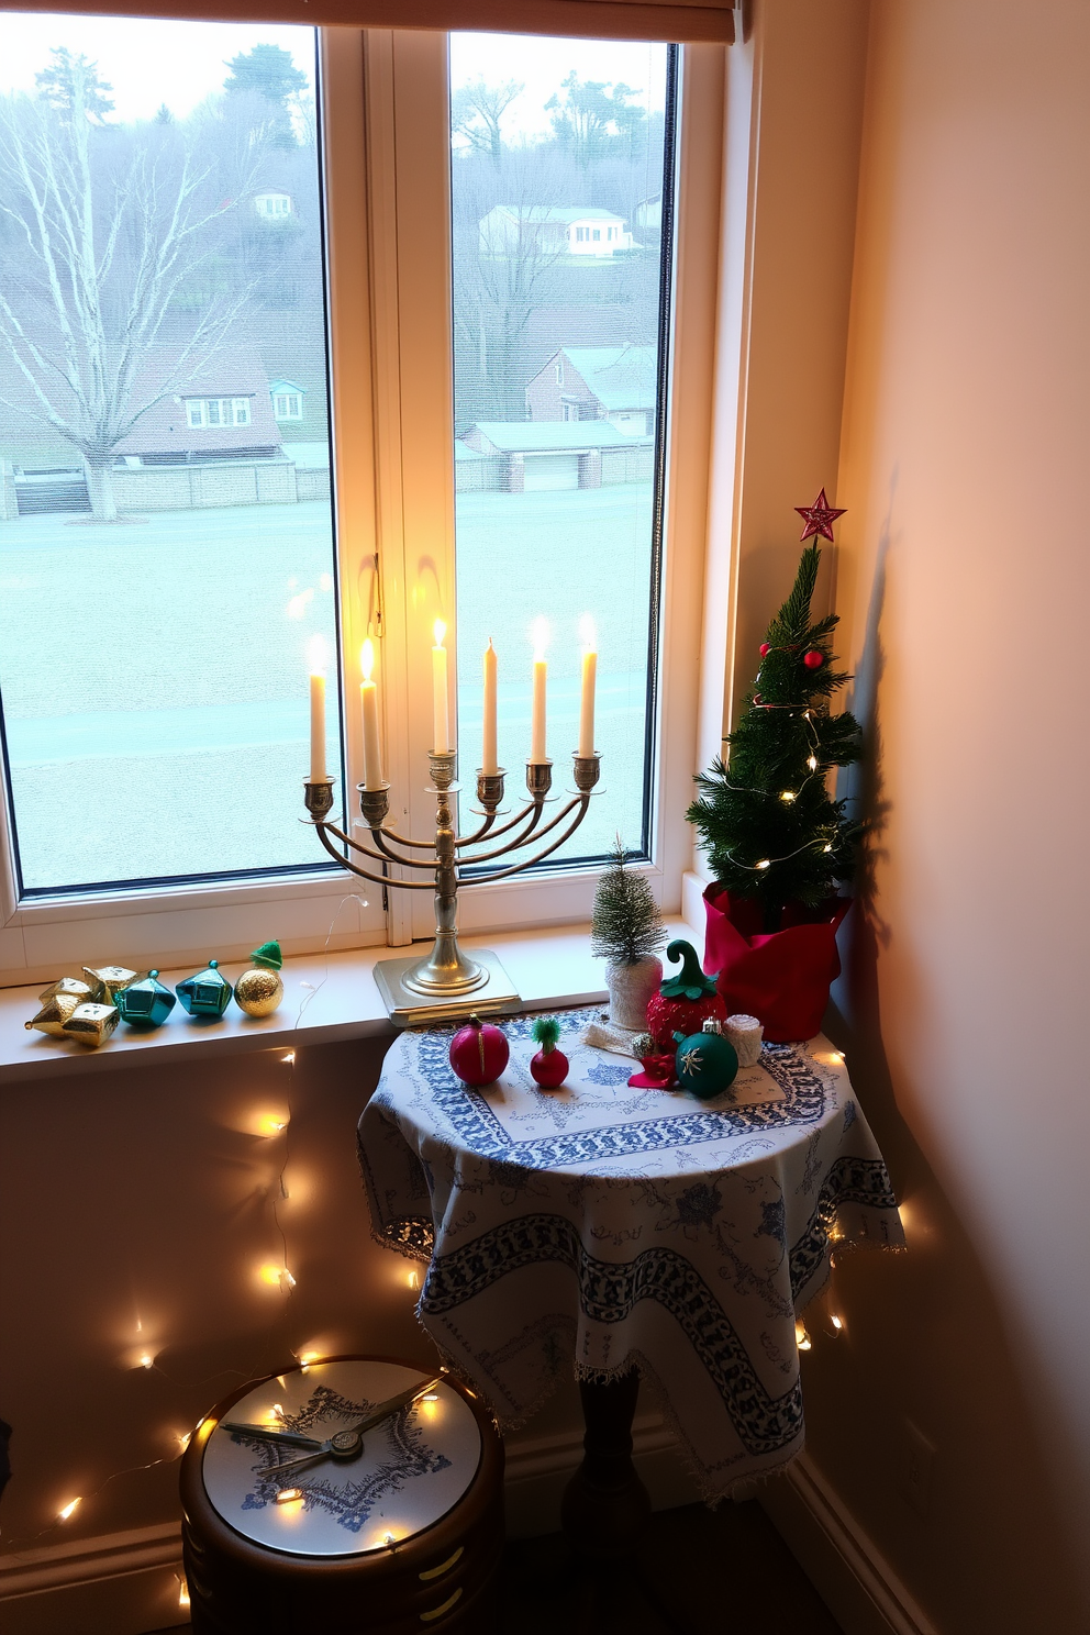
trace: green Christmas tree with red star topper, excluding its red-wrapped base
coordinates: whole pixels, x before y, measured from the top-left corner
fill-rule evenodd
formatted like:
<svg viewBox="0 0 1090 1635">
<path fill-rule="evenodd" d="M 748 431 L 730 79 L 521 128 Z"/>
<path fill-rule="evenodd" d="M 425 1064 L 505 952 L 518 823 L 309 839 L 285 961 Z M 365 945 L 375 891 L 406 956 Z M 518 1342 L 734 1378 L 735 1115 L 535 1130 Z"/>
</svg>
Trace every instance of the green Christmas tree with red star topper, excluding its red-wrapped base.
<svg viewBox="0 0 1090 1635">
<path fill-rule="evenodd" d="M 833 515 L 822 490 L 802 535 L 832 540 Z M 814 518 L 820 518 L 814 522 Z M 830 767 L 860 759 L 860 724 L 847 710 L 830 714 L 829 698 L 850 677 L 833 670 L 829 638 L 838 618 L 811 623 L 817 543 L 802 551 L 791 595 L 768 626 L 762 665 L 745 711 L 727 739 L 729 762 L 698 775 L 699 800 L 686 816 L 699 831 L 716 880 L 735 896 L 760 898 L 766 932 L 780 929 L 786 903 L 817 907 L 833 881 L 850 880 L 861 824 L 830 800 Z"/>
</svg>

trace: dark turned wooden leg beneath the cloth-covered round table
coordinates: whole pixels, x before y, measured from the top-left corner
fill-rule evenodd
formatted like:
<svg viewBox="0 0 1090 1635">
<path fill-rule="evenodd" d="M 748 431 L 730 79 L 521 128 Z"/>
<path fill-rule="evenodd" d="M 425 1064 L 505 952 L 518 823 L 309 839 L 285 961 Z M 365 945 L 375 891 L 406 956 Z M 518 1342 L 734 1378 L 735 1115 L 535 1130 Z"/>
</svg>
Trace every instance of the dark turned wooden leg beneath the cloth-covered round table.
<svg viewBox="0 0 1090 1635">
<path fill-rule="evenodd" d="M 647 1488 L 632 1465 L 632 1414 L 639 1395 L 636 1368 L 614 1380 L 580 1380 L 583 1462 L 561 1506 L 564 1534 L 587 1561 L 614 1561 L 639 1548 L 650 1516 Z"/>
</svg>

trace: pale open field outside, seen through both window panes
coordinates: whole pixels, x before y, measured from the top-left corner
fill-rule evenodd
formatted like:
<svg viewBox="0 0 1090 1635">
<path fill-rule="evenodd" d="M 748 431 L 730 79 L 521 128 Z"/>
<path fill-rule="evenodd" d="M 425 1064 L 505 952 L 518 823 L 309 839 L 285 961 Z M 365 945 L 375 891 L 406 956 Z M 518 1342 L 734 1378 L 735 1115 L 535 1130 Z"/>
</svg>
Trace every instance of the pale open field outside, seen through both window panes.
<svg viewBox="0 0 1090 1635">
<path fill-rule="evenodd" d="M 549 754 L 556 786 L 567 786 L 579 620 L 592 613 L 608 793 L 569 852 L 601 852 L 618 827 L 637 844 L 650 486 L 464 494 L 458 528 L 462 777 L 479 764 L 479 654 L 492 636 L 500 762 L 508 790 L 520 788 L 529 625 L 544 613 Z M 25 885 L 314 862 L 297 822 L 306 649 L 320 631 L 332 651 L 333 600 L 322 502 L 165 512 L 123 526 L 0 523 L 0 690 Z M 333 741 L 328 757 L 335 768 Z"/>
</svg>

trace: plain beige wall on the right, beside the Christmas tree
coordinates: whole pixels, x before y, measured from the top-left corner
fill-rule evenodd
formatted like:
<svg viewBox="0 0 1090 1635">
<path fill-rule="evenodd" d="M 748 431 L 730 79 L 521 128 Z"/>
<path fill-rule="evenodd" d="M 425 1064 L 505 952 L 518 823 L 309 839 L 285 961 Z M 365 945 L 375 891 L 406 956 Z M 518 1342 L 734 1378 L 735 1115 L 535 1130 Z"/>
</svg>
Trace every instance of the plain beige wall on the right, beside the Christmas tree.
<svg viewBox="0 0 1090 1635">
<path fill-rule="evenodd" d="M 1088 75 L 1077 0 L 874 5 L 837 605 L 878 829 L 838 997 L 912 1252 L 837 1269 L 806 1393 L 945 1635 L 1090 1627 Z"/>
</svg>

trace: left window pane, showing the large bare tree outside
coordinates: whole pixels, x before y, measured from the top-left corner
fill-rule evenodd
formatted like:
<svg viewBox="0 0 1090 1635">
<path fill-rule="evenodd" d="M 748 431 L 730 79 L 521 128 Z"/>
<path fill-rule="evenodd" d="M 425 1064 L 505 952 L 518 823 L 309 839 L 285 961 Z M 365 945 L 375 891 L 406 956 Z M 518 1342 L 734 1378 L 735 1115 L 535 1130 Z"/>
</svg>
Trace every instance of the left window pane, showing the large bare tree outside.
<svg viewBox="0 0 1090 1635">
<path fill-rule="evenodd" d="M 315 47 L 0 13 L 0 698 L 28 894 L 333 867 L 297 821 L 307 651 L 337 654 Z M 278 378 L 307 394 L 291 445 Z"/>
</svg>

